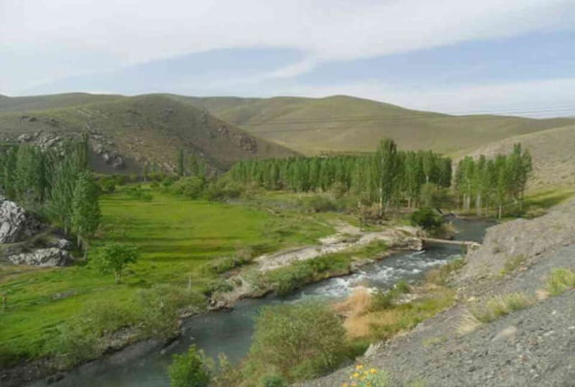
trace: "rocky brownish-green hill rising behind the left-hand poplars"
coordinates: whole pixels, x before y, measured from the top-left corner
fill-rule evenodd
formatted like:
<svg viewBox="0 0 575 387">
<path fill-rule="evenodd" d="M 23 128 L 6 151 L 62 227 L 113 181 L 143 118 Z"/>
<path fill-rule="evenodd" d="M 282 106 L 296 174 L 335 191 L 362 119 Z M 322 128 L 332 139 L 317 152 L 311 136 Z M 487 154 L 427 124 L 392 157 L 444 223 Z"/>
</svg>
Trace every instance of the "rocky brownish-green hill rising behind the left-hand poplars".
<svg viewBox="0 0 575 387">
<path fill-rule="evenodd" d="M 120 154 L 132 169 L 146 161 L 170 167 L 178 148 L 204 157 L 217 169 L 244 158 L 296 154 L 166 95 L 66 94 L 9 98 L 0 100 L 0 106 L 9 110 L 0 113 L 0 140 L 39 131 L 89 131 L 94 141 Z M 43 109 L 26 110 L 30 106 Z"/>
</svg>

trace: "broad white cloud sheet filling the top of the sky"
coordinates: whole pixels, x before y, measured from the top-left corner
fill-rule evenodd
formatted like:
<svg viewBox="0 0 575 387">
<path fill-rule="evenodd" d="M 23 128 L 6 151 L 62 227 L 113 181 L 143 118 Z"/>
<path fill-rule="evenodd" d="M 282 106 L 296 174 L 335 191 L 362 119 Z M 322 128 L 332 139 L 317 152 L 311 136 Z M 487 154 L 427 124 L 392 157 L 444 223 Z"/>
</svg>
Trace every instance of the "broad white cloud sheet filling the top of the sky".
<svg viewBox="0 0 575 387">
<path fill-rule="evenodd" d="M 267 75 L 281 78 L 324 60 L 573 28 L 574 7 L 569 0 L 0 0 L 0 61 L 2 51 L 59 53 L 40 77 L 46 79 L 98 71 L 99 60 L 76 64 L 94 53 L 117 67 L 217 48 L 307 53 L 302 63 Z M 36 60 L 40 66 L 44 57 Z M 26 76 L 3 72 L 0 87 Z"/>
</svg>

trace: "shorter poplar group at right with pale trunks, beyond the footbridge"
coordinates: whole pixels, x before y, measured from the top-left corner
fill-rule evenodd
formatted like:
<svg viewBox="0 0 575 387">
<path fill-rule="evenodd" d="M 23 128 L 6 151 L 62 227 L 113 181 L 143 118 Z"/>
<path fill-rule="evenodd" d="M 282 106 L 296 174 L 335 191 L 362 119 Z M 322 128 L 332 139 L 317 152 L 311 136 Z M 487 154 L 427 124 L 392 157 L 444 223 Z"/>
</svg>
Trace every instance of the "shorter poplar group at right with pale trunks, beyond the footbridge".
<svg viewBox="0 0 575 387">
<path fill-rule="evenodd" d="M 493 208 L 499 218 L 505 208 L 521 210 L 531 170 L 531 154 L 522 150 L 521 144 L 515 144 L 510 154 L 490 160 L 483 155 L 477 159 L 467 156 L 455 172 L 459 203 L 467 211 L 474 206 L 478 215 L 488 215 Z"/>
</svg>

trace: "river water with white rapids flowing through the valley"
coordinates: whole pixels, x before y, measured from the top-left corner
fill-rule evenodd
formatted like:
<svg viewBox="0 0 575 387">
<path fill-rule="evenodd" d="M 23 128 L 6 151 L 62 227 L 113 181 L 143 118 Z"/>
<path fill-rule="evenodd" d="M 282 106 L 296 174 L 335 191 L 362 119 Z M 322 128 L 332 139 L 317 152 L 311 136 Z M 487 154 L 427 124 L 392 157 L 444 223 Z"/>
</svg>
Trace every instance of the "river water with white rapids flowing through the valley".
<svg viewBox="0 0 575 387">
<path fill-rule="evenodd" d="M 481 220 L 455 219 L 459 234 L 456 239 L 481 242 L 485 229 L 493 223 Z M 415 281 L 434 266 L 439 266 L 462 254 L 460 246 L 429 246 L 424 251 L 397 253 L 375 262 L 354 274 L 330 278 L 308 285 L 289 297 L 269 296 L 262 299 L 246 299 L 227 311 L 216 311 L 187 319 L 180 340 L 164 350 L 154 350 L 136 357 L 113 357 L 79 367 L 51 386 L 58 387 L 163 387 L 168 386 L 167 366 L 171 355 L 182 353 L 191 344 L 216 358 L 225 353 L 232 362 L 238 362 L 250 348 L 254 332 L 254 316 L 264 305 L 293 303 L 307 297 L 323 297 L 337 300 L 349 295 L 352 288 L 363 285 L 369 288 L 387 289 L 400 279 Z M 33 387 L 47 385 L 36 382 Z"/>
</svg>

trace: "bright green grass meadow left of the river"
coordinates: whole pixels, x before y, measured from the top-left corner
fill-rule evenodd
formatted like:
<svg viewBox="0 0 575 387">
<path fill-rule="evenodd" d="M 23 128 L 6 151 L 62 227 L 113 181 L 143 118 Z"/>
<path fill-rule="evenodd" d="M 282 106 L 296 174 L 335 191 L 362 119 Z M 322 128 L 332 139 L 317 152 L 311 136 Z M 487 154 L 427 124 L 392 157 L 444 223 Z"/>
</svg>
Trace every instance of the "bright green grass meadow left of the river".
<svg viewBox="0 0 575 387">
<path fill-rule="evenodd" d="M 139 288 L 152 284 L 187 285 L 204 291 L 215 274 L 204 270 L 213 258 L 251 247 L 264 253 L 287 246 L 315 243 L 333 233 L 320 218 L 297 212 L 271 212 L 234 204 L 191 201 L 160 192 L 150 201 L 122 193 L 101 199 L 102 241 L 139 246 L 142 257 L 122 284 L 112 274 L 85 265 L 68 268 L 0 266 L 0 293 L 7 296 L 0 312 L 0 351 L 11 357 L 37 357 L 56 327 L 82 310 L 88 301 L 129 301 Z M 6 356 L 6 355 L 5 355 Z"/>
</svg>

